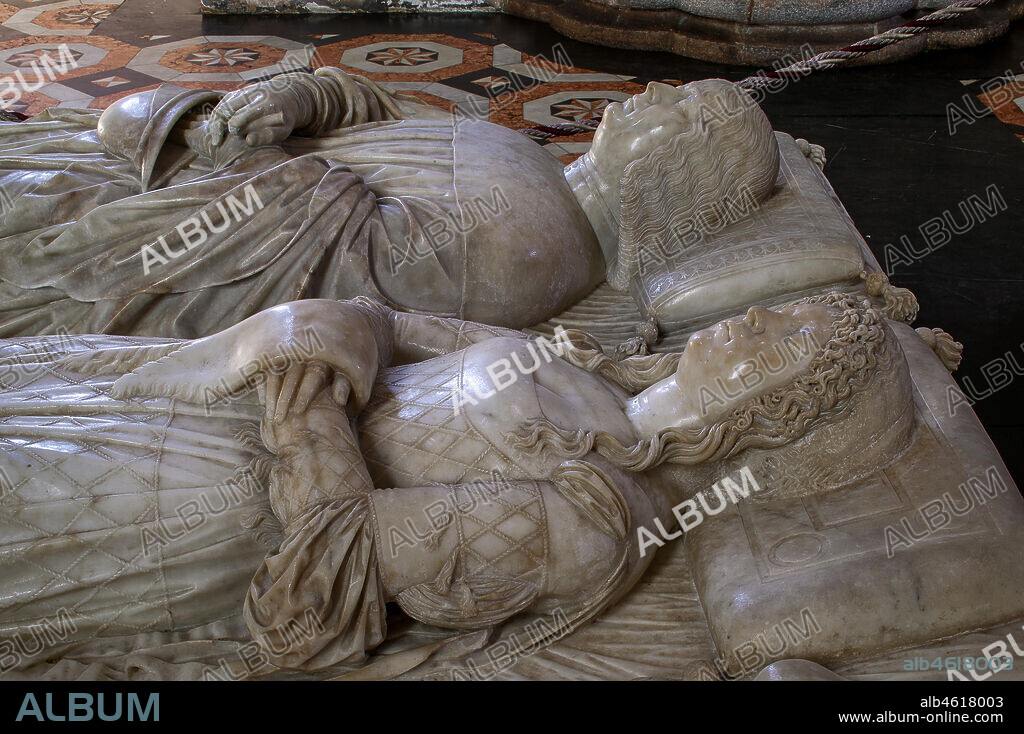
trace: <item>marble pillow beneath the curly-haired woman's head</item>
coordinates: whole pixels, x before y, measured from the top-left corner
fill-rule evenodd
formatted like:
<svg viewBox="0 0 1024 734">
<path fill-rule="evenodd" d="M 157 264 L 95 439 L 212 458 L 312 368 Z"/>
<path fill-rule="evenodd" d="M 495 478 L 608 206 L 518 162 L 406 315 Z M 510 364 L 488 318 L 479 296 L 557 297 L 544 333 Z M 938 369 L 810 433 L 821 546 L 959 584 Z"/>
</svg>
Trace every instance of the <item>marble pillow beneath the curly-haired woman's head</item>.
<svg viewBox="0 0 1024 734">
<path fill-rule="evenodd" d="M 728 671 L 848 664 L 1024 617 L 1024 500 L 974 412 L 950 405 L 939 358 L 891 326 L 913 382 L 906 452 L 830 491 L 752 494 L 686 534 Z"/>
</svg>

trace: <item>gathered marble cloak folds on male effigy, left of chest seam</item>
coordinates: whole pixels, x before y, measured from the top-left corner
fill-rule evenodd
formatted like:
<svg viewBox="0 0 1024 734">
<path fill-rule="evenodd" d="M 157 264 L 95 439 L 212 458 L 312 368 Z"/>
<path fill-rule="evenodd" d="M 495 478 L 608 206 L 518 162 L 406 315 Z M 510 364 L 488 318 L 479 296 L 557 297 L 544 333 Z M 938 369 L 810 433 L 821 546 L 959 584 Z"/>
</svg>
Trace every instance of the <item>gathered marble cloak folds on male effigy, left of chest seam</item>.
<svg viewBox="0 0 1024 734">
<path fill-rule="evenodd" d="M 300 141 L 330 158 L 266 146 L 219 171 L 200 161 L 141 192 L 138 173 L 100 144 L 97 119 L 50 110 L 0 127 L 0 184 L 14 205 L 0 223 L 0 336 L 191 338 L 307 297 L 401 293 L 407 307 L 458 311 L 462 248 L 432 249 L 423 234 L 450 208 L 431 192 L 452 190 L 451 122 Z M 358 165 L 368 145 L 390 163 L 355 173 L 339 162 Z M 402 272 L 410 247 L 421 255 Z"/>
</svg>

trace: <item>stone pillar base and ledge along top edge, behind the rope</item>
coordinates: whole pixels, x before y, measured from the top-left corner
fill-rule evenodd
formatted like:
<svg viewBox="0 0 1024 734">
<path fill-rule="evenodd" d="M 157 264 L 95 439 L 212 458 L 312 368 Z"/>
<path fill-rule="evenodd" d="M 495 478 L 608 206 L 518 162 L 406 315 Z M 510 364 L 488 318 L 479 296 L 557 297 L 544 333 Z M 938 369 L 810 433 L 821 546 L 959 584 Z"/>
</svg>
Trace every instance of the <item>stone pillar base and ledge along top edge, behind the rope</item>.
<svg viewBox="0 0 1024 734">
<path fill-rule="evenodd" d="M 202 0 L 207 13 L 493 12 L 542 20 L 579 41 L 670 51 L 723 63 L 769 66 L 839 49 L 950 0 Z M 981 8 L 856 63 L 998 38 L 1024 16 L 1024 0 Z"/>
</svg>

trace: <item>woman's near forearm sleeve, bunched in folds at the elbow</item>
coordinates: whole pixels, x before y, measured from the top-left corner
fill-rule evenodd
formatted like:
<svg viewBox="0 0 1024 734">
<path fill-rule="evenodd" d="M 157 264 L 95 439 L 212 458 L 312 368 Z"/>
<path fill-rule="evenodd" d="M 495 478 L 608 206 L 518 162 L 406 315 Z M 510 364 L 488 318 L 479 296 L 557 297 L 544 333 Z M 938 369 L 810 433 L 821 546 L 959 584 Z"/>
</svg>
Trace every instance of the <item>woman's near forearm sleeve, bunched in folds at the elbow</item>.
<svg viewBox="0 0 1024 734">
<path fill-rule="evenodd" d="M 278 456 L 270 504 L 285 538 L 253 577 L 246 623 L 280 667 L 359 661 L 386 624 L 373 483 L 355 435 L 326 395 L 284 426 L 264 421 L 262 434 Z"/>
</svg>

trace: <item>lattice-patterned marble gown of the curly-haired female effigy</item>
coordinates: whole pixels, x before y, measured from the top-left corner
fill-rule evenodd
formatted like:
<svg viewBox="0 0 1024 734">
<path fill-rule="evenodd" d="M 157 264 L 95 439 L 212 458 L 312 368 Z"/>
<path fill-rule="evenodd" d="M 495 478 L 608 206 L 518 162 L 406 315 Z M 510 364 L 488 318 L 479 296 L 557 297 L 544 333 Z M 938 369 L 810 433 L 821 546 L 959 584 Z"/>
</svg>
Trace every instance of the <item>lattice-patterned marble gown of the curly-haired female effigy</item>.
<svg viewBox="0 0 1024 734">
<path fill-rule="evenodd" d="M 195 678 L 204 675 L 196 662 L 204 645 L 245 640 L 248 629 L 264 659 L 318 670 L 358 663 L 384 640 L 385 589 L 414 618 L 454 629 L 501 623 L 543 595 L 573 624 L 606 606 L 650 560 L 637 558 L 634 525 L 657 512 L 656 492 L 648 496 L 642 478 L 613 469 L 593 474 L 524 454 L 504 434 L 543 415 L 543 390 L 547 414 L 564 413 L 566 425 L 573 416 L 628 437 L 624 416 L 609 422 L 602 414 L 616 393 L 554 358 L 456 413 L 456 390 L 479 390 L 496 354 L 512 350 L 528 360 L 529 350 L 521 337 L 488 339 L 493 331 L 482 327 L 466 337 L 461 321 L 438 323 L 458 329 L 460 349 L 382 365 L 357 419 L 358 445 L 329 427 L 330 436 L 271 441 L 275 457 L 258 438 L 255 391 L 208 408 L 112 397 L 123 370 L 102 349 L 159 350 L 167 341 L 0 342 L 0 649 L 16 651 L 18 670 L 81 657 L 119 675 L 133 664 L 133 651 L 145 649 L 138 665 Z M 94 374 L 57 361 L 71 352 Z M 581 415 L 577 399 L 588 393 L 594 407 Z M 326 415 L 347 430 L 343 412 Z M 423 518 L 424 506 L 444 496 L 465 505 L 472 499 L 466 483 L 495 472 L 503 486 L 483 509 L 456 513 L 439 529 L 440 552 L 451 560 L 436 579 L 385 577 L 381 559 L 395 553 L 390 527 Z M 295 488 L 314 499 L 295 504 Z M 595 515 L 594 507 L 611 510 Z M 586 533 L 597 538 L 586 546 L 599 554 L 593 558 L 577 557 L 574 544 Z M 549 574 L 558 563 L 579 568 Z M 43 644 L 41 625 L 60 620 L 61 632 Z M 296 624 L 305 636 L 282 632 Z"/>
</svg>

